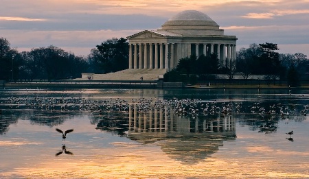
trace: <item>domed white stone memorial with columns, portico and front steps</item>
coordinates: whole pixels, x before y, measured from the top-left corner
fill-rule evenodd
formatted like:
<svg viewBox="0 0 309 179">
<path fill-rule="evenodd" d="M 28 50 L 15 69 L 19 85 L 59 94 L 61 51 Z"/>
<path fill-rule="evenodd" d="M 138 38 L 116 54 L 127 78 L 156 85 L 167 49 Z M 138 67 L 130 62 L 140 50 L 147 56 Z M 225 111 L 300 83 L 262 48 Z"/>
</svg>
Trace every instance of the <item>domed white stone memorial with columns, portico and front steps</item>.
<svg viewBox="0 0 309 179">
<path fill-rule="evenodd" d="M 128 69 L 108 74 L 93 74 L 94 80 L 157 80 L 177 66 L 179 59 L 196 55 L 218 54 L 220 66 L 236 59 L 236 36 L 207 14 L 196 10 L 179 12 L 159 29 L 146 29 L 127 37 Z M 110 77 L 111 79 L 108 79 Z"/>
</svg>

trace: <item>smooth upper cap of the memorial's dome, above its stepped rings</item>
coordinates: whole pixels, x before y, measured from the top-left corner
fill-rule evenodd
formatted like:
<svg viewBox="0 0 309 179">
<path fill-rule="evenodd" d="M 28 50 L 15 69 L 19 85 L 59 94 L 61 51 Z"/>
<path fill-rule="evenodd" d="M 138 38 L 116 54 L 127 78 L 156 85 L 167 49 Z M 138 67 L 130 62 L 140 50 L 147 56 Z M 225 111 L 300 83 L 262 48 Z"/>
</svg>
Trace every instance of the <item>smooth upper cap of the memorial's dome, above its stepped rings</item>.
<svg viewBox="0 0 309 179">
<path fill-rule="evenodd" d="M 172 16 L 168 21 L 213 21 L 209 16 L 197 10 L 185 10 Z"/>
</svg>

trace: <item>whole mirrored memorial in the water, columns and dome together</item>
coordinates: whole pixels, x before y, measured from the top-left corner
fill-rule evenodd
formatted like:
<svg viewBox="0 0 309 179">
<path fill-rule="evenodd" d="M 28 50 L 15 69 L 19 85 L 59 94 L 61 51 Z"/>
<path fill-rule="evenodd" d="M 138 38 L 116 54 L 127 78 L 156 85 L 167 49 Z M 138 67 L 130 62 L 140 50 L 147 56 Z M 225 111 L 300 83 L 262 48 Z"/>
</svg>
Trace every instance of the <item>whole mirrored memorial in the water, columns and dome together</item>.
<svg viewBox="0 0 309 179">
<path fill-rule="evenodd" d="M 170 106 L 148 112 L 129 108 L 128 137 L 141 143 L 156 143 L 170 158 L 182 163 L 198 163 L 236 139 L 236 119 L 213 114 L 184 117 L 175 115 Z"/>
</svg>

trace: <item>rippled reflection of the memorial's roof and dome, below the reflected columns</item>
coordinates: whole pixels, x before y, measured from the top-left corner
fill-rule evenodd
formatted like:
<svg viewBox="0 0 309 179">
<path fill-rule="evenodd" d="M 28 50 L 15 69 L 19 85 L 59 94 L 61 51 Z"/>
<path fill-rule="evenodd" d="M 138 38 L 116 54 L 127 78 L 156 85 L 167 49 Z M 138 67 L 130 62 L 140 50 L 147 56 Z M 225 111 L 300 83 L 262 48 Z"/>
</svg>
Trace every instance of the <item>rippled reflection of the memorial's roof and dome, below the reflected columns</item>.
<svg viewBox="0 0 309 179">
<path fill-rule="evenodd" d="M 139 143 L 156 143 L 173 160 L 196 164 L 223 146 L 223 141 L 236 139 L 236 132 L 130 132 L 128 138 Z"/>
</svg>

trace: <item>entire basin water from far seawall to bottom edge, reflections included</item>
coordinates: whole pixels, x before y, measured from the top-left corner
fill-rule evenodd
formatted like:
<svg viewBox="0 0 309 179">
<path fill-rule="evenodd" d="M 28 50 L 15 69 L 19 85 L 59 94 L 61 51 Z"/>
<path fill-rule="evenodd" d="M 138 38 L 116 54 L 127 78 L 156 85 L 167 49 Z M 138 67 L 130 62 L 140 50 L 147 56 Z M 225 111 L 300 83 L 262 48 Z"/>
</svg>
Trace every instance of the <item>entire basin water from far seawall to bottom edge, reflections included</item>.
<svg viewBox="0 0 309 179">
<path fill-rule="evenodd" d="M 0 178 L 309 178 L 308 92 L 3 89 Z"/>
</svg>

